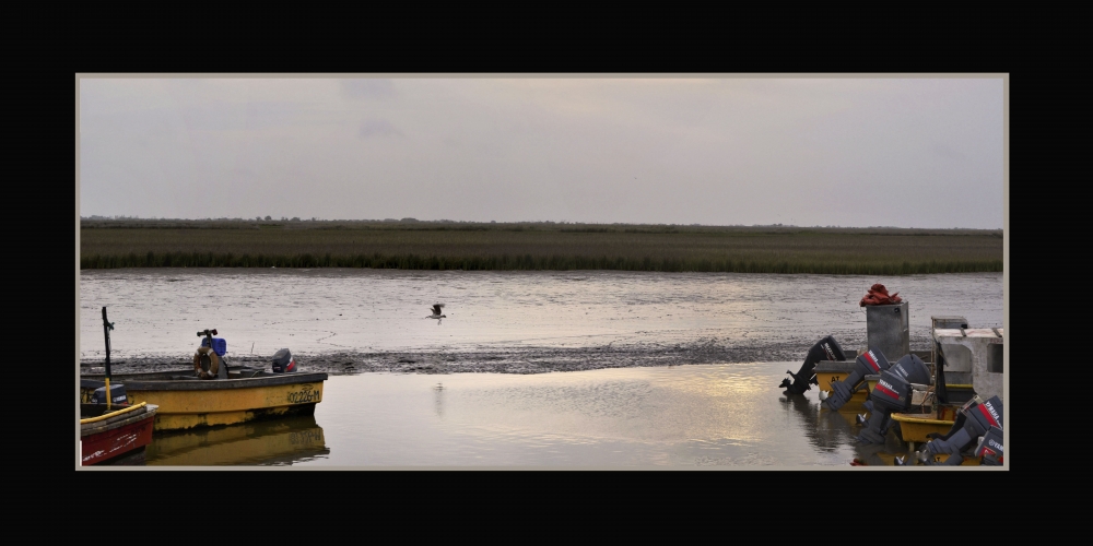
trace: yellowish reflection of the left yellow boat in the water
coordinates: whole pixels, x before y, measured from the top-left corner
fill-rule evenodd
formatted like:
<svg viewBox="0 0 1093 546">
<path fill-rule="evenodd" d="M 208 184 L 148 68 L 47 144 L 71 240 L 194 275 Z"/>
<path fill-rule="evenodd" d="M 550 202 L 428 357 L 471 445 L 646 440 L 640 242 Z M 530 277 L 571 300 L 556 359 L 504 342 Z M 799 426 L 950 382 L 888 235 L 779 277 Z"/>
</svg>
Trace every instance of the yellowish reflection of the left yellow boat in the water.
<svg viewBox="0 0 1093 546">
<path fill-rule="evenodd" d="M 149 466 L 286 465 L 326 455 L 315 417 L 259 420 L 226 427 L 156 432 Z"/>
</svg>

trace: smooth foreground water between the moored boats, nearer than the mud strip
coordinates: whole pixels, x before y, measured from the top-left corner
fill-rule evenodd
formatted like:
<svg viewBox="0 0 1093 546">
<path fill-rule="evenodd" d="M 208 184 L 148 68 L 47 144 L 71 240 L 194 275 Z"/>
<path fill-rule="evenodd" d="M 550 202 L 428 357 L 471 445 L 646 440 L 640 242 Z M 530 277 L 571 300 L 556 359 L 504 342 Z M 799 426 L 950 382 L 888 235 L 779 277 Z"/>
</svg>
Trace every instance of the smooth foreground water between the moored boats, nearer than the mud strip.
<svg viewBox="0 0 1093 546">
<path fill-rule="evenodd" d="M 151 466 L 844 466 L 853 408 L 776 388 L 792 363 L 540 375 L 331 377 L 314 417 L 157 435 Z M 860 411 L 860 410 L 859 410 Z"/>
</svg>

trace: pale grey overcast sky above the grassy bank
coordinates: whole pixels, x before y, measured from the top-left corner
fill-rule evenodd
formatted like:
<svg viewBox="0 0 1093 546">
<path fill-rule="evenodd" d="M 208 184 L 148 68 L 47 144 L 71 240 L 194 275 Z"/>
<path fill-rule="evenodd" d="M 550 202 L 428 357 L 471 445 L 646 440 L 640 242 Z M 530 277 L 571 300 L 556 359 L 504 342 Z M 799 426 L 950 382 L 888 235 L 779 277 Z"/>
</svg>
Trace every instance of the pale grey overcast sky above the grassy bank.
<svg viewBox="0 0 1093 546">
<path fill-rule="evenodd" d="M 1003 80 L 80 80 L 80 214 L 1001 228 Z"/>
</svg>

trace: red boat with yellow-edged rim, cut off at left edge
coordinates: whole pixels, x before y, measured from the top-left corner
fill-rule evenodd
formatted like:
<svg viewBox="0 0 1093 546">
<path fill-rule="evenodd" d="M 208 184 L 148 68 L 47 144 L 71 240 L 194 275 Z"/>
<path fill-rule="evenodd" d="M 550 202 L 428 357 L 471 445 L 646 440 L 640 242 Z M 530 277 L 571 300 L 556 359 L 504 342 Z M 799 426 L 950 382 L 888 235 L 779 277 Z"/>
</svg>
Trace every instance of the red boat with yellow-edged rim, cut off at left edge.
<svg viewBox="0 0 1093 546">
<path fill-rule="evenodd" d="M 152 442 L 152 425 L 158 406 L 80 404 L 80 448 L 83 466 L 133 464 Z"/>
</svg>

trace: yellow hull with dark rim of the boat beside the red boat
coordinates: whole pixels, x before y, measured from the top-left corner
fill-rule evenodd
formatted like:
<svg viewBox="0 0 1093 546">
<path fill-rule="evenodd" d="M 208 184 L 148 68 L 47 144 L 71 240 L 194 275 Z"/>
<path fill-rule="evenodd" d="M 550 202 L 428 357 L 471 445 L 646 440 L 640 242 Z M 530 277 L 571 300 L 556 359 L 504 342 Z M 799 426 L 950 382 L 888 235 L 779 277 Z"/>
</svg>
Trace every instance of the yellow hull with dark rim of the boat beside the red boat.
<svg viewBox="0 0 1093 546">
<path fill-rule="evenodd" d="M 181 372 L 115 376 L 113 383 L 126 385 L 130 404 L 160 406 L 156 430 L 235 425 L 290 415 L 313 415 L 322 401 L 326 373 L 283 373 L 245 379 L 177 379 Z M 144 377 L 141 377 L 144 376 Z M 102 385 L 81 379 L 81 397 Z"/>
</svg>

